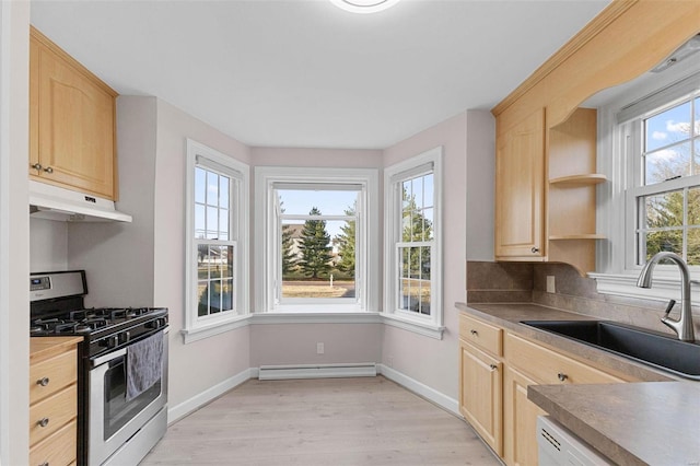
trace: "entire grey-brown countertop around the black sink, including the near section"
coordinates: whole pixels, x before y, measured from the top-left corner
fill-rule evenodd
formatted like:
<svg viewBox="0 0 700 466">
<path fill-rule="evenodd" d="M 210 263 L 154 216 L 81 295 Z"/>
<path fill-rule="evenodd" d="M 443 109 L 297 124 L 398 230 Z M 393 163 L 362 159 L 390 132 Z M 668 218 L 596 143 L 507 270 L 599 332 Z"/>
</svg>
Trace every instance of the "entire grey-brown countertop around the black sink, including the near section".
<svg viewBox="0 0 700 466">
<path fill-rule="evenodd" d="M 700 383 L 521 321 L 593 319 L 532 303 L 465 304 L 475 315 L 522 336 L 561 349 L 633 382 L 603 385 L 530 385 L 528 398 L 600 453 L 623 465 L 700 465 Z"/>
</svg>

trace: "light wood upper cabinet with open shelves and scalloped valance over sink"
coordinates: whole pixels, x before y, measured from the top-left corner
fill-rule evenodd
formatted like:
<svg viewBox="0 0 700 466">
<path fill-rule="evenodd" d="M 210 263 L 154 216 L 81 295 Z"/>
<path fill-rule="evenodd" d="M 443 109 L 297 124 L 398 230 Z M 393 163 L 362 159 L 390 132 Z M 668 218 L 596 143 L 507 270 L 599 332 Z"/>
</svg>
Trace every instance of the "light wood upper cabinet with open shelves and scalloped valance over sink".
<svg viewBox="0 0 700 466">
<path fill-rule="evenodd" d="M 495 258 L 595 270 L 597 116 L 592 95 L 658 65 L 698 33 L 700 1 L 615 0 L 491 110 Z"/>
</svg>

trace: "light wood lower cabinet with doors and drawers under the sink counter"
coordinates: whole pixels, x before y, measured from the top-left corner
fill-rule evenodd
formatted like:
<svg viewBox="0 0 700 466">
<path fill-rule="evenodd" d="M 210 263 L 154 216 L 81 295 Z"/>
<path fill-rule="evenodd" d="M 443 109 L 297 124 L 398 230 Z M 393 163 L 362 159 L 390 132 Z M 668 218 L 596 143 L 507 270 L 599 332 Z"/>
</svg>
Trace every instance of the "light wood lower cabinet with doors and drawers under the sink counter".
<svg viewBox="0 0 700 466">
<path fill-rule="evenodd" d="M 474 315 L 462 314 L 460 323 L 459 410 L 509 466 L 538 463 L 545 411 L 527 399 L 528 385 L 628 382 Z"/>
</svg>

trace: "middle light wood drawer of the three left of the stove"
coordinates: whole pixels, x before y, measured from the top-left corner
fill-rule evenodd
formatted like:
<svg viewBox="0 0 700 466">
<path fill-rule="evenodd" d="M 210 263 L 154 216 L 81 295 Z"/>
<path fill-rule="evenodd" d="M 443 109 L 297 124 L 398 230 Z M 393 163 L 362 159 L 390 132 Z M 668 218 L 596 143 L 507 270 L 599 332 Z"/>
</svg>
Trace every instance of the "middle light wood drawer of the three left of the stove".
<svg viewBox="0 0 700 466">
<path fill-rule="evenodd" d="M 75 384 L 32 405 L 30 408 L 30 445 L 35 445 L 75 419 L 77 413 L 78 388 Z M 45 421 L 44 427 L 42 427 L 42 421 Z"/>
</svg>

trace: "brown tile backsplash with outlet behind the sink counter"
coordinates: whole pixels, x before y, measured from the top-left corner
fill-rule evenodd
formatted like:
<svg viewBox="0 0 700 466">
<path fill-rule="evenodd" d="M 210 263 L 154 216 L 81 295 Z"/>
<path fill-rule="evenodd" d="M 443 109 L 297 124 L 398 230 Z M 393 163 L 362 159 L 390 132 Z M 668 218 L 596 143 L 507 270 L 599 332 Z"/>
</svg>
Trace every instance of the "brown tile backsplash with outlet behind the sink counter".
<svg viewBox="0 0 700 466">
<path fill-rule="evenodd" d="M 547 277 L 555 292 L 547 292 Z M 595 280 L 565 264 L 467 261 L 467 303 L 533 302 L 673 334 L 660 322 L 665 303 L 600 294 Z"/>
</svg>

